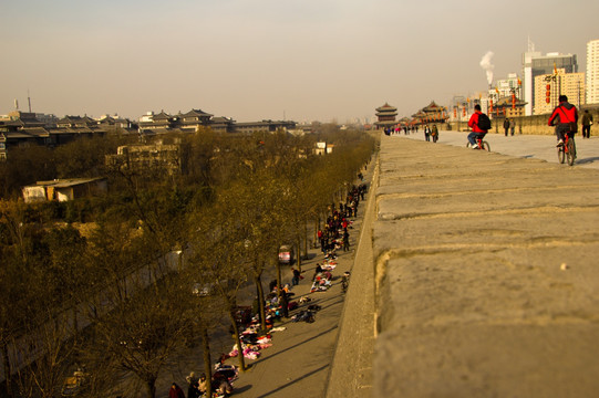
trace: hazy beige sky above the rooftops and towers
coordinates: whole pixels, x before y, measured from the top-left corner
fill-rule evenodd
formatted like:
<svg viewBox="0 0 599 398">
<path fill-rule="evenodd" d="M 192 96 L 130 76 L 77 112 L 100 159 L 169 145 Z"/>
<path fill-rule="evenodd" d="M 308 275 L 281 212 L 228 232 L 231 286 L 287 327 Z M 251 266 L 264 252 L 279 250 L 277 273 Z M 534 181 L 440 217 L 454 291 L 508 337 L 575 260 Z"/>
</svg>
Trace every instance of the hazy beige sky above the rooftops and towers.
<svg viewBox="0 0 599 398">
<path fill-rule="evenodd" d="M 598 0 L 0 0 L 0 114 L 410 116 L 599 39 Z"/>
</svg>

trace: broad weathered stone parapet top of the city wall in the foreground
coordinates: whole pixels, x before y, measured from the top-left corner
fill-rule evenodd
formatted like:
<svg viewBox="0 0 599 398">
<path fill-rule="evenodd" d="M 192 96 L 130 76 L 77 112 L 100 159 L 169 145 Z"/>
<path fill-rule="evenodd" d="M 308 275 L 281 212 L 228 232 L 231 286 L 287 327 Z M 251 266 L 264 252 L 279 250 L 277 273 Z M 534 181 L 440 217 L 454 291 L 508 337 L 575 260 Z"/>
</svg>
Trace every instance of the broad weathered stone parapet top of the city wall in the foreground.
<svg viewBox="0 0 599 398">
<path fill-rule="evenodd" d="M 599 396 L 599 170 L 383 135 L 374 179 L 375 314 L 350 290 L 329 396 Z M 369 326 L 364 395 L 335 368 Z"/>
</svg>

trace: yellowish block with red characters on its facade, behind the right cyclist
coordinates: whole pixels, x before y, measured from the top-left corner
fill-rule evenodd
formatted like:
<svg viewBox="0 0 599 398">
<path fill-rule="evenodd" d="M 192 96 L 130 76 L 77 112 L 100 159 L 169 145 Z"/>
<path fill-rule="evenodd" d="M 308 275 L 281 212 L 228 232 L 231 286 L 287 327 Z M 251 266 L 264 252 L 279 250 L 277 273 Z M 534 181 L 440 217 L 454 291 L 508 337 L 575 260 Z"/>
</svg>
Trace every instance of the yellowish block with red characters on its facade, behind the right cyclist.
<svg viewBox="0 0 599 398">
<path fill-rule="evenodd" d="M 554 78 L 555 76 L 555 78 Z M 549 85 L 549 103 L 547 103 L 547 85 Z M 534 114 L 543 115 L 554 111 L 558 105 L 559 95 L 566 95 L 570 104 L 580 108 L 585 105 L 585 74 L 566 73 L 564 69 L 535 76 L 535 106 Z"/>
</svg>

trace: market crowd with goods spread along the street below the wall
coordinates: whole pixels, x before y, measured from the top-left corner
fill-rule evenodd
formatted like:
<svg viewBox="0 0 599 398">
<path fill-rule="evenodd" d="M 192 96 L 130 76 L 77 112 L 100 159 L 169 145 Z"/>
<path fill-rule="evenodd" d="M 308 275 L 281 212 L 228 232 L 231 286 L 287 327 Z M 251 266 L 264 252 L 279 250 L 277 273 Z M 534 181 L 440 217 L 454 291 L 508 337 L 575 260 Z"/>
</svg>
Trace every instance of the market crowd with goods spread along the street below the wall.
<svg viewBox="0 0 599 398">
<path fill-rule="evenodd" d="M 363 181 L 363 175 L 358 176 L 360 182 Z M 331 203 L 329 208 L 329 216 L 321 230 L 318 231 L 320 240 L 320 250 L 323 259 L 317 262 L 314 268 L 314 274 L 312 276 L 312 285 L 310 293 L 326 292 L 329 290 L 335 277 L 333 271 L 337 268 L 338 250 L 344 252 L 350 250 L 350 229 L 352 229 L 353 220 L 358 216 L 358 207 L 360 201 L 364 199 L 366 193 L 366 185 L 359 184 L 352 186 L 348 191 L 345 200 L 340 202 L 339 206 Z M 321 306 L 313 303 L 316 298 L 309 296 L 309 294 L 302 295 L 298 300 L 293 300 L 293 287 L 298 286 L 304 279 L 302 272 L 299 269 L 291 266 L 289 269 L 291 275 L 291 284 L 278 285 L 275 280 L 269 284 L 269 291 L 265 297 L 265 316 L 267 331 L 261 329 L 261 323 L 259 320 L 259 303 L 258 298 L 255 300 L 251 307 L 245 307 L 248 316 L 240 316 L 240 342 L 241 347 L 235 345 L 228 354 L 223 354 L 215 365 L 215 371 L 211 378 L 213 390 L 218 397 L 227 397 L 233 392 L 233 381 L 238 378 L 237 367 L 234 365 L 226 365 L 228 358 L 235 358 L 238 355 L 244 355 L 246 359 L 257 359 L 262 349 L 272 346 L 271 333 L 282 332 L 285 326 L 276 327 L 277 322 L 307 322 L 312 323 L 316 321 L 316 314 L 321 310 Z M 343 292 L 347 289 L 349 271 L 343 275 L 344 285 Z M 293 314 L 290 312 L 295 311 Z M 205 397 L 207 389 L 206 375 L 202 374 L 200 377 L 196 377 L 195 373 L 190 373 L 186 378 L 187 380 L 187 398 L 200 398 Z M 173 383 L 169 394 L 169 398 L 185 398 L 183 389 Z"/>
</svg>

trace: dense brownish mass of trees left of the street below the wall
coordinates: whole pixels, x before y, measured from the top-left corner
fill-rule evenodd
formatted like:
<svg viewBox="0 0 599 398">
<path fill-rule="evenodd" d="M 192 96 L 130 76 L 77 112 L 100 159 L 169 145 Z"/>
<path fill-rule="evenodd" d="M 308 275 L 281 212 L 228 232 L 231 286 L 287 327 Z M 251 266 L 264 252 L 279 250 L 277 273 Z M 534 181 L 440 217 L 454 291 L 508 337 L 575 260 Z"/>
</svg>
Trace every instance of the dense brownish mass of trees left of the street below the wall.
<svg viewBox="0 0 599 398">
<path fill-rule="evenodd" d="M 241 347 L 241 291 L 255 286 L 266 329 L 262 279 L 280 283 L 279 245 L 293 243 L 301 259 L 307 226 L 318 228 L 374 149 L 353 132 L 327 137 L 328 156 L 310 155 L 313 137 L 203 133 L 184 142 L 183 176 L 109 170 L 121 200 L 107 198 L 93 224 L 0 201 L 0 395 L 60 397 L 66 380 L 81 397 L 154 398 L 190 339 L 209 375 L 224 318 Z"/>
</svg>

